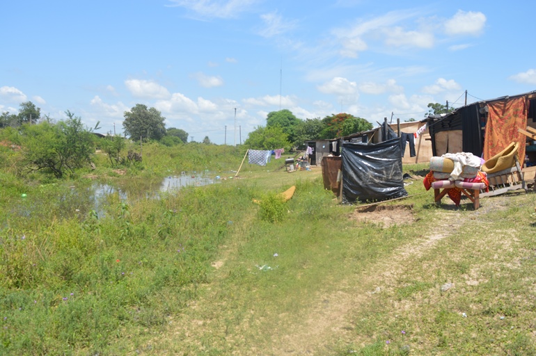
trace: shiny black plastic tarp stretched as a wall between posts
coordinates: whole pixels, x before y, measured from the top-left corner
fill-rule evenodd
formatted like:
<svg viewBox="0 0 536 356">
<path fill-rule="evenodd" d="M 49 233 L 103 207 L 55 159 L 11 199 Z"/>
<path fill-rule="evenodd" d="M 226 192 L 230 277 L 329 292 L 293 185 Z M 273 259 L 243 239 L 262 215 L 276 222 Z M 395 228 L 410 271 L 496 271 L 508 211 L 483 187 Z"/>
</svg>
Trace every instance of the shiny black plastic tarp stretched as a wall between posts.
<svg viewBox="0 0 536 356">
<path fill-rule="evenodd" d="M 342 143 L 342 202 L 388 200 L 407 195 L 400 138 L 382 143 Z"/>
</svg>

